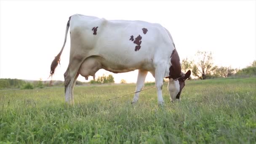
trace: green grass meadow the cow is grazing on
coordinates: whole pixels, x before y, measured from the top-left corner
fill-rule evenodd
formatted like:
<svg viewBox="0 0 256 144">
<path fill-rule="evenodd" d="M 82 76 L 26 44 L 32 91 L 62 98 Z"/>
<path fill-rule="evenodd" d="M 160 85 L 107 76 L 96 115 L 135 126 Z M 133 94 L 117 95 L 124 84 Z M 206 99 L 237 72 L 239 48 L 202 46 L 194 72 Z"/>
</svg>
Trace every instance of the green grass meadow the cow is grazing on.
<svg viewBox="0 0 256 144">
<path fill-rule="evenodd" d="M 150 87 L 147 85 L 145 88 Z M 135 85 L 0 90 L 0 143 L 256 143 L 256 77 L 187 81 L 181 102 L 157 104 L 156 89 Z"/>
</svg>

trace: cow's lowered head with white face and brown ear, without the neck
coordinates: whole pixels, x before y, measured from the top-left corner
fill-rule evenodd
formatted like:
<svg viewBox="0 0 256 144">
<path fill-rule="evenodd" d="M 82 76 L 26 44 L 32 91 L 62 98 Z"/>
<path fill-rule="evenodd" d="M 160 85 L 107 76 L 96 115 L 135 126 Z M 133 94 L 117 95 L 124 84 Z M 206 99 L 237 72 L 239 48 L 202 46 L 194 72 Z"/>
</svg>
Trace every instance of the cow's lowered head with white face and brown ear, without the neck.
<svg viewBox="0 0 256 144">
<path fill-rule="evenodd" d="M 171 96 L 171 101 L 180 100 L 181 91 L 185 86 L 185 80 L 190 77 L 191 71 L 187 71 L 186 74 L 181 73 L 181 77 L 177 79 L 169 79 L 168 90 Z"/>
</svg>

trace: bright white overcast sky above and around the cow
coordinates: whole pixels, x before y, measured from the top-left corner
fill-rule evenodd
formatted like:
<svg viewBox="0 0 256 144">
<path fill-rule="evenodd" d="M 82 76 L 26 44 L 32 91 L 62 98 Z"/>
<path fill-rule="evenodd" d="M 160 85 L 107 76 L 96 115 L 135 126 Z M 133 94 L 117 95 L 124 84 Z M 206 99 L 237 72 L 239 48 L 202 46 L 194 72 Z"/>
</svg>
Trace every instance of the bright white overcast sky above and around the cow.
<svg viewBox="0 0 256 144">
<path fill-rule="evenodd" d="M 212 51 L 214 64 L 243 68 L 256 59 L 256 1 L 0 1 L 0 78 L 47 80 L 51 61 L 61 50 L 69 16 L 160 23 L 173 37 L 181 59 Z M 64 80 L 69 35 L 61 67 Z M 110 72 L 99 70 L 96 77 Z M 137 71 L 113 74 L 136 82 Z M 50 79 L 48 79 L 50 80 Z M 78 80 L 85 81 L 81 76 Z M 91 80 L 91 79 L 89 79 Z M 146 81 L 154 81 L 149 73 Z"/>
</svg>

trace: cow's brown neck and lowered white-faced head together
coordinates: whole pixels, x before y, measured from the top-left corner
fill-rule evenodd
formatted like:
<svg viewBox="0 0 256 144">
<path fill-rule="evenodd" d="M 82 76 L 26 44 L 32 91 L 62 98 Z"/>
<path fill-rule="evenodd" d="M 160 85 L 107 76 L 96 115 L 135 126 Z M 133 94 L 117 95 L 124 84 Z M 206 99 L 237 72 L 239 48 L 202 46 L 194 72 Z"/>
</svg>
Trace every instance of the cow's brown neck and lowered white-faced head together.
<svg viewBox="0 0 256 144">
<path fill-rule="evenodd" d="M 174 45 L 174 44 L 173 44 Z M 169 68 L 169 83 L 168 90 L 172 101 L 179 99 L 181 91 L 185 86 L 185 80 L 190 77 L 191 71 L 187 71 L 186 74 L 181 72 L 181 64 L 179 60 L 179 54 L 176 48 L 171 54 L 171 67 Z"/>
</svg>

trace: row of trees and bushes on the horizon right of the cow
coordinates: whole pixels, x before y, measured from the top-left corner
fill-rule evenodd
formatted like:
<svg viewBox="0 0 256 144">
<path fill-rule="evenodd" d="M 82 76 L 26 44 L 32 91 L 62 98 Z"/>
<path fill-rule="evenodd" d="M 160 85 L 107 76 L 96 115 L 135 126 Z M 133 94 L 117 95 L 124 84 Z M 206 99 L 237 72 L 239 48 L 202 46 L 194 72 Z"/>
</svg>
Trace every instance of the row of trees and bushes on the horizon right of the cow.
<svg viewBox="0 0 256 144">
<path fill-rule="evenodd" d="M 230 76 L 256 76 L 256 60 L 252 64 L 243 69 L 234 69 L 232 67 L 216 66 L 213 64 L 213 56 L 211 52 L 197 51 L 196 60 L 188 58 L 181 61 L 181 68 L 185 72 L 192 70 L 192 75 L 200 80 L 217 77 Z"/>
</svg>

